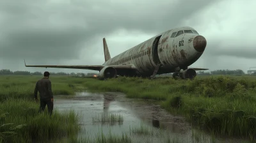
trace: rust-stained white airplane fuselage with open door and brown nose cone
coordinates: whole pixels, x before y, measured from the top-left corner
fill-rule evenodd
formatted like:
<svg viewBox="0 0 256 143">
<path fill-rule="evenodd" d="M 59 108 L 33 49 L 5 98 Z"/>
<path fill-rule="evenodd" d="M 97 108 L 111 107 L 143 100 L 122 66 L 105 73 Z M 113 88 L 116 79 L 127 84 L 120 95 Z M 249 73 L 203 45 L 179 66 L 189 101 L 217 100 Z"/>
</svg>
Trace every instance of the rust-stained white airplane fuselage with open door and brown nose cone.
<svg viewBox="0 0 256 143">
<path fill-rule="evenodd" d="M 187 70 L 202 56 L 206 47 L 204 36 L 192 27 L 179 27 L 158 34 L 135 47 L 109 59 L 103 65 L 132 65 L 136 70 L 118 70 L 117 75 L 152 75 L 157 64 L 157 74 L 175 72 L 175 68 Z"/>
</svg>

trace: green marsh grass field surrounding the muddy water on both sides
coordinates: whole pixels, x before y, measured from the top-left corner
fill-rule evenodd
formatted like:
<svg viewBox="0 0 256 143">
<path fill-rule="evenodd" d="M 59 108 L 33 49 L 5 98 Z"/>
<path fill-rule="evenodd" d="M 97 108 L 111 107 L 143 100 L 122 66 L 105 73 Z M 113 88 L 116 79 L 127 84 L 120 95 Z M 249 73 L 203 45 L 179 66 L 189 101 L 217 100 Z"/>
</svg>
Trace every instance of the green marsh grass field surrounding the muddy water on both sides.
<svg viewBox="0 0 256 143">
<path fill-rule="evenodd" d="M 20 129 L 22 131 L 17 131 L 18 134 L 15 136 L 23 140 L 29 140 L 34 136 L 44 137 L 41 134 L 44 130 L 51 130 L 51 135 L 54 137 L 59 133 L 65 134 L 59 130 L 68 130 L 70 135 L 74 135 L 79 130 L 74 112 L 54 113 L 60 121 L 70 121 L 72 124 L 68 126 L 62 126 L 63 122 L 52 123 L 51 118 L 36 114 L 38 105 L 33 102 L 33 89 L 36 80 L 40 78 L 42 77 L 0 77 L 2 102 L 0 114 L 9 113 L 4 114 L 6 116 L 4 120 L 0 118 L 0 124 L 14 123 L 12 126 L 27 124 L 22 127 L 23 130 Z M 88 87 L 92 92 L 118 91 L 127 94 L 129 98 L 157 100 L 172 114 L 186 116 L 192 123 L 216 135 L 236 135 L 252 139 L 256 134 L 255 76 L 198 76 L 195 80 L 174 80 L 172 77 L 161 77 L 155 80 L 125 77 L 97 80 L 54 76 L 51 77 L 51 82 L 55 95 L 72 95 L 77 90 L 84 90 L 84 87 Z M 40 123 L 42 119 L 47 121 Z M 58 128 L 60 126 L 61 128 Z M 76 128 L 70 128 L 70 126 L 76 126 Z M 0 128 L 0 132 L 3 134 L 8 130 Z M 37 133 L 37 136 L 33 133 Z"/>
</svg>

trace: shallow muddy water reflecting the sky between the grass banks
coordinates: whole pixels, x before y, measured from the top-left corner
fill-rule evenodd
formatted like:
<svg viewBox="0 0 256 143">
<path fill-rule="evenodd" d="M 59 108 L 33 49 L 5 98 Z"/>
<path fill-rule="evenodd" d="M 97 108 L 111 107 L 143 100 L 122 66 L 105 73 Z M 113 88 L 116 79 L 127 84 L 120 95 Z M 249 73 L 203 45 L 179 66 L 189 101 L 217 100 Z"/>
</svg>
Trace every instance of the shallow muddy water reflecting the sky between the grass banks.
<svg viewBox="0 0 256 143">
<path fill-rule="evenodd" d="M 172 116 L 154 102 L 125 98 L 120 93 L 77 93 L 72 98 L 58 96 L 54 101 L 58 110 L 75 110 L 81 115 L 82 131 L 79 137 L 92 137 L 98 133 L 122 135 L 127 133 L 132 142 L 242 142 L 237 139 L 214 139 L 211 135 L 194 130 L 183 117 Z M 95 123 L 93 117 L 118 114 L 124 121 Z M 150 132 L 134 132 L 141 126 Z M 133 132 L 132 132 L 133 131 Z"/>
</svg>

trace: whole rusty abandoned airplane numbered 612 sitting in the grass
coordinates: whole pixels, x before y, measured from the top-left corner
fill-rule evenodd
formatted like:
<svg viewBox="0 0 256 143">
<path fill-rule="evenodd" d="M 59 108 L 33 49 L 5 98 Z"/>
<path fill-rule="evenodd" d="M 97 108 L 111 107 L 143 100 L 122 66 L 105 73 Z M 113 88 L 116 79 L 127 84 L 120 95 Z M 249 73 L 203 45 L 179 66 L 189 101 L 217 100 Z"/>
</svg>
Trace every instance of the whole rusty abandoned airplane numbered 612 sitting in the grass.
<svg viewBox="0 0 256 143">
<path fill-rule="evenodd" d="M 110 56 L 106 38 L 103 38 L 105 62 L 102 65 L 27 65 L 40 68 L 72 68 L 99 71 L 103 79 L 150 77 L 173 73 L 175 79 L 195 79 L 196 71 L 207 68 L 188 68 L 204 53 L 207 41 L 189 26 L 170 29 L 144 41 L 115 57 Z"/>
</svg>

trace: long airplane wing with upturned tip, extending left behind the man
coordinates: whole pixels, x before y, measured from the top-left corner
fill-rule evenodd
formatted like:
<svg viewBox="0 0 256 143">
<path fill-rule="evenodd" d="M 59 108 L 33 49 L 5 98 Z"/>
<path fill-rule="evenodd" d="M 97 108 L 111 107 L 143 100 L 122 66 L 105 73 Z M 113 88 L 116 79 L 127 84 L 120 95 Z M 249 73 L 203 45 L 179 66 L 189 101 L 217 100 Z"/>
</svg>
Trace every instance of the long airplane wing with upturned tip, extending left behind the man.
<svg viewBox="0 0 256 143">
<path fill-rule="evenodd" d="M 72 68 L 72 69 L 84 69 L 84 70 L 97 70 L 100 71 L 104 68 L 104 65 L 27 65 L 24 59 L 26 67 L 38 67 L 38 68 Z M 132 69 L 131 65 L 108 65 L 109 67 L 118 69 Z"/>
</svg>

